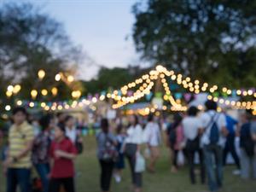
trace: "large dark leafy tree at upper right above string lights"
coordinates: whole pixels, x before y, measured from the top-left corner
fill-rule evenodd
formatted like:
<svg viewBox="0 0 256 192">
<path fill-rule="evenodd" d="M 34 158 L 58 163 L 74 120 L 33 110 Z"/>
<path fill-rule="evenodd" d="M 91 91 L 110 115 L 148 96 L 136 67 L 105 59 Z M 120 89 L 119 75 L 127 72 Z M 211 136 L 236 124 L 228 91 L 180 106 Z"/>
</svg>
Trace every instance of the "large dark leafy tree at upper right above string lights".
<svg viewBox="0 0 256 192">
<path fill-rule="evenodd" d="M 148 61 L 216 84 L 253 86 L 256 1 L 136 3 L 133 39 Z"/>
</svg>

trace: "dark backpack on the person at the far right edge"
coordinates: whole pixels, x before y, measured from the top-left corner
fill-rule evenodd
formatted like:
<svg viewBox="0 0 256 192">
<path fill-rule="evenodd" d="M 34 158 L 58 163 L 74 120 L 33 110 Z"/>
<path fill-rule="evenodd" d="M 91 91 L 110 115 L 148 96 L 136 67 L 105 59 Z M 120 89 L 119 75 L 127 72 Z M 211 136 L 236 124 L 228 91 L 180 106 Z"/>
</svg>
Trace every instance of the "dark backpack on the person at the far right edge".
<svg viewBox="0 0 256 192">
<path fill-rule="evenodd" d="M 249 157 L 253 157 L 255 143 L 253 142 L 250 128 L 251 128 L 250 123 L 243 125 L 241 127 L 241 143 L 242 143 L 242 147 L 244 148 L 246 154 Z"/>
</svg>

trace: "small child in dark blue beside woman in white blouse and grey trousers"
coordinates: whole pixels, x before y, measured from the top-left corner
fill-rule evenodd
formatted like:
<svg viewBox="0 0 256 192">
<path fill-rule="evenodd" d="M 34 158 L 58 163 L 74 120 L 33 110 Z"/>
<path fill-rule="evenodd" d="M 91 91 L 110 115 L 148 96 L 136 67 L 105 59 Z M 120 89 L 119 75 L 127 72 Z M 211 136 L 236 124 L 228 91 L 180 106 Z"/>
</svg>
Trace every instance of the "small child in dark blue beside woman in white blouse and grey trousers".
<svg viewBox="0 0 256 192">
<path fill-rule="evenodd" d="M 124 143 L 125 143 L 125 128 L 123 125 L 118 125 L 117 127 L 117 150 L 119 152 L 119 158 L 118 161 L 115 164 L 115 172 L 114 172 L 114 178 L 116 183 L 121 182 L 121 173 L 122 170 L 125 168 L 125 156 L 124 156 Z"/>
</svg>

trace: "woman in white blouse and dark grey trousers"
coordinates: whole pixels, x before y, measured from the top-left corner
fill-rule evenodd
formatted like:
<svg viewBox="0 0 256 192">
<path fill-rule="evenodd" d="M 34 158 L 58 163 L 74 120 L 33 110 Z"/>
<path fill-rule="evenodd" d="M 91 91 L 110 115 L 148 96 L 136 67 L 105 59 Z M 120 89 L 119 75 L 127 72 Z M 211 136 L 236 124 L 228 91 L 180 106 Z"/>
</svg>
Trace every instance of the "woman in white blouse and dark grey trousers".
<svg viewBox="0 0 256 192">
<path fill-rule="evenodd" d="M 143 186 L 142 172 L 135 172 L 136 157 L 140 153 L 140 145 L 143 143 L 143 128 L 138 123 L 137 115 L 129 119 L 130 126 L 125 139 L 125 155 L 131 167 L 131 179 L 135 192 L 140 192 Z"/>
</svg>

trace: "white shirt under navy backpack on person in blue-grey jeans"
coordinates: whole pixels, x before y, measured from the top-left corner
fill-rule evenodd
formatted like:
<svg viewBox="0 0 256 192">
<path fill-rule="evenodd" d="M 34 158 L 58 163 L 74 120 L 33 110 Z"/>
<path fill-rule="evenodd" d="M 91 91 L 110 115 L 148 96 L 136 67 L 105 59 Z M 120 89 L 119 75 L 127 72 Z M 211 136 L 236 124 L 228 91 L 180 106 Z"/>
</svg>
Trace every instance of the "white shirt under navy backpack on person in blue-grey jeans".
<svg viewBox="0 0 256 192">
<path fill-rule="evenodd" d="M 203 128 L 205 129 L 202 137 L 201 137 L 201 145 L 207 145 L 210 143 L 210 130 L 212 127 L 212 124 L 210 124 L 212 116 L 215 115 L 217 112 L 210 110 L 206 113 L 201 114 L 201 123 Z M 217 122 L 218 129 L 219 129 L 219 140 L 218 145 L 224 147 L 225 143 L 225 137 L 222 136 L 220 133 L 221 129 L 226 126 L 226 119 L 223 113 L 217 113 L 217 115 L 214 118 L 215 122 Z"/>
</svg>

